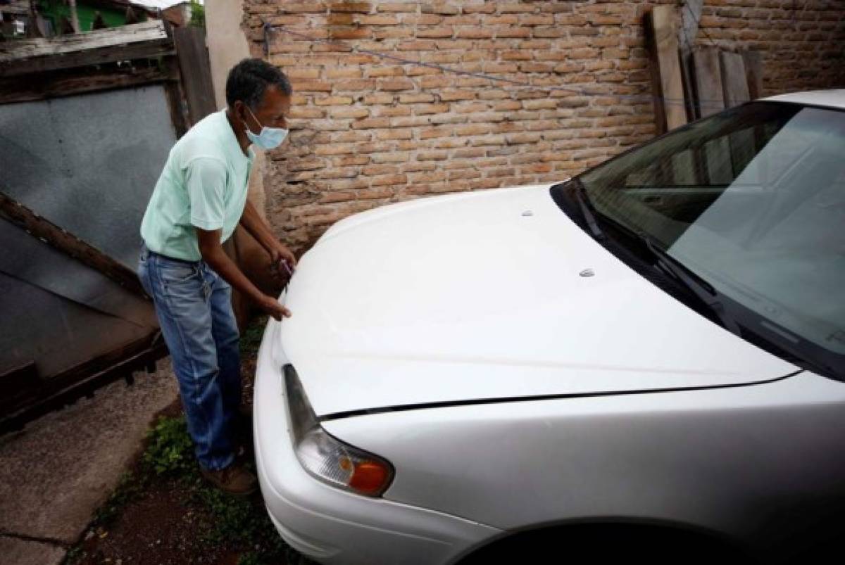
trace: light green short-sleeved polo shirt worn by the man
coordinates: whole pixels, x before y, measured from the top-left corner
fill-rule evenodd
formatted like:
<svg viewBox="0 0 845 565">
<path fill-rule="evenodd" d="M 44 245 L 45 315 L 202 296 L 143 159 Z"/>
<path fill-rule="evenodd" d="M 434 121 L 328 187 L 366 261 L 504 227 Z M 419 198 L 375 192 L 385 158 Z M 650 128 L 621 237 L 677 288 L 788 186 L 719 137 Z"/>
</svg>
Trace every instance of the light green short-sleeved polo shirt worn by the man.
<svg viewBox="0 0 845 565">
<path fill-rule="evenodd" d="M 194 124 L 170 150 L 150 204 L 141 220 L 141 237 L 150 251 L 199 261 L 194 228 L 222 230 L 225 242 L 247 203 L 253 149 L 245 155 L 221 110 Z"/>
</svg>

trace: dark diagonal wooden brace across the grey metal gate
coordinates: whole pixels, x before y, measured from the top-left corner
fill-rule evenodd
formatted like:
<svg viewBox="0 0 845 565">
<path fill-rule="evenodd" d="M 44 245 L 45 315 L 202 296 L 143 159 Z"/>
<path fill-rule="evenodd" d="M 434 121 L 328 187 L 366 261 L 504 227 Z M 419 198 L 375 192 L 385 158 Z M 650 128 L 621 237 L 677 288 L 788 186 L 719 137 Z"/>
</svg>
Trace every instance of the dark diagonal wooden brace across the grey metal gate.
<svg viewBox="0 0 845 565">
<path fill-rule="evenodd" d="M 83 242 L 79 237 L 35 214 L 25 205 L 9 198 L 4 193 L 0 193 L 0 216 L 62 253 L 106 275 L 128 291 L 146 297 L 144 288 L 138 280 L 138 275 L 124 266 L 123 263 L 118 263 L 96 247 Z"/>
</svg>

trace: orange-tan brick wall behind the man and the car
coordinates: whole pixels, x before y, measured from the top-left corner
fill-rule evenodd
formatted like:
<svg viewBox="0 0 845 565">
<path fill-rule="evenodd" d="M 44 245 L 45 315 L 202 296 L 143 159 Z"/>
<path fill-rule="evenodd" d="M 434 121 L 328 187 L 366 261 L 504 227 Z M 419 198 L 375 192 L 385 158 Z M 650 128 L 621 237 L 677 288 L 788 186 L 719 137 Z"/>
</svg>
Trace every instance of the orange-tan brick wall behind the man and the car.
<svg viewBox="0 0 845 565">
<path fill-rule="evenodd" d="M 653 105 L 631 96 L 651 95 L 643 14 L 653 5 L 247 0 L 254 56 L 264 56 L 262 21 L 319 40 L 267 36 L 267 57 L 296 90 L 297 128 L 264 171 L 271 224 L 301 248 L 363 209 L 553 182 L 650 139 Z M 696 43 L 760 50 L 767 94 L 843 86 L 843 21 L 834 0 L 706 0 Z"/>
</svg>

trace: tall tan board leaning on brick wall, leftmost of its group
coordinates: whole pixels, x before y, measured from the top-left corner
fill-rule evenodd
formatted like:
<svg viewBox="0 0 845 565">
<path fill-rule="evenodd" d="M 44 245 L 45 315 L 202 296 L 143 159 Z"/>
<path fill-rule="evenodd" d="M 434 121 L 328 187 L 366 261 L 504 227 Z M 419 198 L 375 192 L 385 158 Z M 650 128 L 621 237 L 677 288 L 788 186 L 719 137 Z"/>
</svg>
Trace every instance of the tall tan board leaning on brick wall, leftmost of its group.
<svg viewBox="0 0 845 565">
<path fill-rule="evenodd" d="M 678 13 L 674 6 L 655 6 L 651 10 L 647 27 L 651 35 L 652 57 L 657 65 L 656 110 L 660 115 L 658 128 L 678 128 L 687 122 L 684 106 L 684 81 L 678 55 Z"/>
</svg>

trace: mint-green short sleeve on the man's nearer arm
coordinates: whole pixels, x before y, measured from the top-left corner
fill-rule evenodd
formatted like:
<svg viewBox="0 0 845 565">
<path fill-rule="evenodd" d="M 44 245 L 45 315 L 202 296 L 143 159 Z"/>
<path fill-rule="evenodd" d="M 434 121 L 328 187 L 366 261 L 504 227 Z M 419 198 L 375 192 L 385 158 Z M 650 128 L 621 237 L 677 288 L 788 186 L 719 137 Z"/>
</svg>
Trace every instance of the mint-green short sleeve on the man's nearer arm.
<svg viewBox="0 0 845 565">
<path fill-rule="evenodd" d="M 201 230 L 220 230 L 225 217 L 226 165 L 211 157 L 190 160 L 185 185 L 191 203 L 191 224 Z"/>
</svg>

